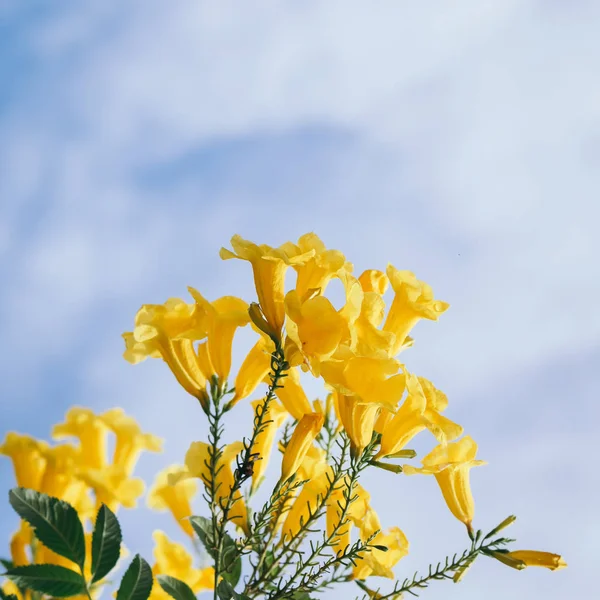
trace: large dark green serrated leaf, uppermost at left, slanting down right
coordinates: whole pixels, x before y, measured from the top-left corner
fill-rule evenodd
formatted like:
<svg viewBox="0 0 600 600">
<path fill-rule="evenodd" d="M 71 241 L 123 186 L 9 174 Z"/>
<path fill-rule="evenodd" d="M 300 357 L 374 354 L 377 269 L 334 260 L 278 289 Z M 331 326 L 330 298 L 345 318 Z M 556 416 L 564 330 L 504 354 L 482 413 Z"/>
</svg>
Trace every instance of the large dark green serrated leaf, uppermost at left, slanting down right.
<svg viewBox="0 0 600 600">
<path fill-rule="evenodd" d="M 83 567 L 83 526 L 70 504 L 26 488 L 10 490 L 8 499 L 18 515 L 34 528 L 35 536 L 44 546 Z"/>
</svg>

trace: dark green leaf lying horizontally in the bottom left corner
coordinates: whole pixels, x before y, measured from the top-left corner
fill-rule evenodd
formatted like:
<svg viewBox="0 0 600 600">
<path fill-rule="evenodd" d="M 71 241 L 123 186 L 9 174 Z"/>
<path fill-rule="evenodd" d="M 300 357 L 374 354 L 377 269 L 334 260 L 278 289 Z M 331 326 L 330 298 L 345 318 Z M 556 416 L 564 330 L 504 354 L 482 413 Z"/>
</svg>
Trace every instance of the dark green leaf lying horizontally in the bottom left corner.
<svg viewBox="0 0 600 600">
<path fill-rule="evenodd" d="M 8 577 L 17 587 L 42 592 L 55 598 L 78 596 L 85 593 L 83 577 L 59 565 L 25 565 L 7 571 Z"/>
</svg>

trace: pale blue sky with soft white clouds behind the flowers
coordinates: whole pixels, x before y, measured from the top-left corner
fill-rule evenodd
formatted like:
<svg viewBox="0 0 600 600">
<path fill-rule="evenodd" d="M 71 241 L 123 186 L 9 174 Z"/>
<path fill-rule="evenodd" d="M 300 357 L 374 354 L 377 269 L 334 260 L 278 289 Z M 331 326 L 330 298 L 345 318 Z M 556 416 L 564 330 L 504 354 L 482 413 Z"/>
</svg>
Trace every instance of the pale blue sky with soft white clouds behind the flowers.
<svg viewBox="0 0 600 600">
<path fill-rule="evenodd" d="M 160 363 L 125 363 L 121 332 L 187 285 L 250 299 L 247 265 L 218 259 L 233 233 L 315 231 L 357 272 L 392 262 L 451 303 L 405 360 L 490 462 L 477 523 L 514 512 L 521 547 L 569 563 L 481 561 L 424 597 L 588 597 L 599 17 L 590 1 L 0 3 L 0 435 L 122 405 L 166 439 L 144 476 L 181 461 L 196 406 Z M 433 480 L 392 484 L 367 480 L 411 540 L 400 577 L 462 547 Z M 150 555 L 148 514 L 123 519 Z"/>
</svg>

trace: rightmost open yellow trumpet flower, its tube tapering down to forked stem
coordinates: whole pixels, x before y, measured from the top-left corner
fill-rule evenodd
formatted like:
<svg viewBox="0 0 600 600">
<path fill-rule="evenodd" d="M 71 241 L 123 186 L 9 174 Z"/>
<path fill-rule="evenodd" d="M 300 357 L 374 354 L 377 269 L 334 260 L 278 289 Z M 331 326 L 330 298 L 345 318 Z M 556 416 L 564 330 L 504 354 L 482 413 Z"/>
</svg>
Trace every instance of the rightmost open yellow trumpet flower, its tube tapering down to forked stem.
<svg viewBox="0 0 600 600">
<path fill-rule="evenodd" d="M 450 512 L 462 521 L 469 531 L 472 529 L 471 522 L 475 514 L 469 471 L 472 467 L 486 464 L 483 460 L 475 460 L 476 454 L 477 444 L 467 435 L 458 442 L 436 446 L 423 458 L 422 468 L 410 465 L 403 467 L 407 475 L 435 475 Z"/>
</svg>

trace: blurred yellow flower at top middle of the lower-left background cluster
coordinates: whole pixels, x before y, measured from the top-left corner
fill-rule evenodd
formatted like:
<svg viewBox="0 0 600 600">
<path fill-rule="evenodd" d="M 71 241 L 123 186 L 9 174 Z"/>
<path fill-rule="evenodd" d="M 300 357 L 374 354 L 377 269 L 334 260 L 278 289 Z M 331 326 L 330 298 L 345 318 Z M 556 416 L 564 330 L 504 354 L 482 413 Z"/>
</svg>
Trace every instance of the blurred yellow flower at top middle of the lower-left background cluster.
<svg viewBox="0 0 600 600">
<path fill-rule="evenodd" d="M 106 436 L 108 428 L 101 417 L 89 408 L 74 406 L 67 411 L 64 423 L 52 428 L 52 437 L 62 440 L 74 437 L 79 440 L 80 465 L 90 469 L 106 466 Z"/>
</svg>

